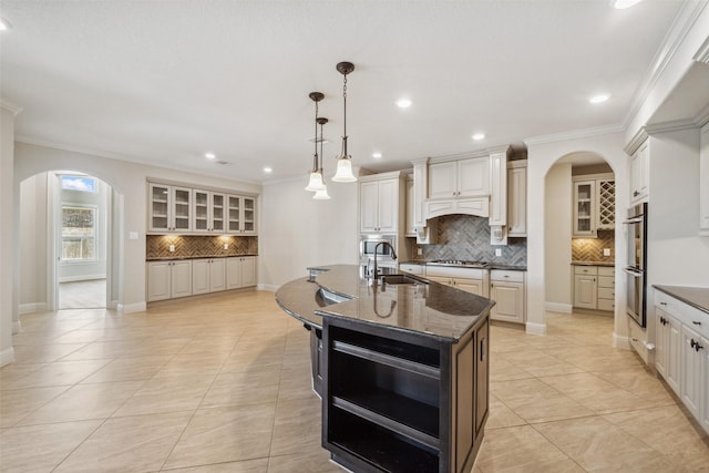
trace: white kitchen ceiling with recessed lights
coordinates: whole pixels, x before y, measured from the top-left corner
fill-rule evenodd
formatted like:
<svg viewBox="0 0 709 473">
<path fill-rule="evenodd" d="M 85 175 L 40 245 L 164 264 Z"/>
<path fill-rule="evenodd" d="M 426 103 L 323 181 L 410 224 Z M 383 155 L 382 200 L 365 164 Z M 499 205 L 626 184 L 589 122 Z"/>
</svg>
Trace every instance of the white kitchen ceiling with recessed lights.
<svg viewBox="0 0 709 473">
<path fill-rule="evenodd" d="M 248 181 L 306 175 L 320 91 L 372 171 L 621 125 L 684 2 L 1 0 L 18 140 Z M 588 97 L 612 94 L 592 105 Z M 408 110 L 394 105 L 405 95 Z M 471 135 L 482 131 L 481 142 Z M 383 154 L 381 160 L 372 152 Z M 207 162 L 205 152 L 217 160 Z M 271 175 L 263 172 L 273 166 Z"/>
</svg>

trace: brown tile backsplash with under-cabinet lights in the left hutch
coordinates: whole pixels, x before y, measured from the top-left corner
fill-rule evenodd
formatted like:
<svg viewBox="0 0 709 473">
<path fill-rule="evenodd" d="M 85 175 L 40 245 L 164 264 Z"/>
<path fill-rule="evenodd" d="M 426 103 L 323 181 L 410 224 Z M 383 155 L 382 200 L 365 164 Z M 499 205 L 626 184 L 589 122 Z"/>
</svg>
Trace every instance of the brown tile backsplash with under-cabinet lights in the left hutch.
<svg viewBox="0 0 709 473">
<path fill-rule="evenodd" d="M 224 249 L 224 245 L 229 247 Z M 169 250 L 175 245 L 175 250 Z M 147 235 L 145 259 L 258 255 L 257 236 Z"/>
</svg>

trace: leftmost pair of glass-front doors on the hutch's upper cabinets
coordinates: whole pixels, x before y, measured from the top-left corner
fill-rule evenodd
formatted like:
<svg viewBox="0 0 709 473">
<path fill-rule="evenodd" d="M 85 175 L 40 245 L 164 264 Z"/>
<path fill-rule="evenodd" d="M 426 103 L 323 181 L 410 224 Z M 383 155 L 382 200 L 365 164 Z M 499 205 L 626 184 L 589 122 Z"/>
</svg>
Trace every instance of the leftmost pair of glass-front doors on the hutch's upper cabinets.
<svg viewBox="0 0 709 473">
<path fill-rule="evenodd" d="M 148 232 L 191 232 L 191 188 L 163 184 L 148 185 Z"/>
</svg>

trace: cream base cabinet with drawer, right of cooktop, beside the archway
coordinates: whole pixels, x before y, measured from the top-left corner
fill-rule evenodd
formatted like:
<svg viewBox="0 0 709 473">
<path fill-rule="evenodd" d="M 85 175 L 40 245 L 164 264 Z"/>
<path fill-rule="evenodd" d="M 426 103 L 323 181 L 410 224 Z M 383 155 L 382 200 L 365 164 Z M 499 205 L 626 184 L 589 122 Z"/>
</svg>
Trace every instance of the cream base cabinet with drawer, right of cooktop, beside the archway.
<svg viewBox="0 0 709 473">
<path fill-rule="evenodd" d="M 493 320 L 524 323 L 526 318 L 524 271 L 493 269 L 490 271 L 490 298 L 495 306 L 490 312 Z"/>
</svg>

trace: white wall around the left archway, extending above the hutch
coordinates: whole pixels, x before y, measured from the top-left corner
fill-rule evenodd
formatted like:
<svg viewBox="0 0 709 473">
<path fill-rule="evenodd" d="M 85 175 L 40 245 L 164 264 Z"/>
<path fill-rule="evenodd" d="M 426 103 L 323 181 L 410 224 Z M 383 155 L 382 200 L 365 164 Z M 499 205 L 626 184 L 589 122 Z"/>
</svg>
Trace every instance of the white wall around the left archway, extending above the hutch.
<svg viewBox="0 0 709 473">
<path fill-rule="evenodd" d="M 235 193 L 259 194 L 261 192 L 261 186 L 258 184 L 145 166 L 72 151 L 16 143 L 14 184 L 18 188 L 19 184 L 28 177 L 56 169 L 76 171 L 96 176 L 111 185 L 119 194 L 117 198 L 121 200 L 120 205 L 124 212 L 121 212 L 123 218 L 119 225 L 121 229 L 120 237 L 113 244 L 117 245 L 123 254 L 123 257 L 117 261 L 122 266 L 122 277 L 117 281 L 120 287 L 117 297 L 120 298 L 119 309 L 126 312 L 144 310 L 146 304 L 145 229 L 147 192 L 145 183 L 147 178 L 186 183 L 196 187 L 217 187 L 230 189 Z M 138 239 L 129 239 L 130 232 L 137 232 Z M 17 246 L 16 240 L 12 250 L 16 250 Z M 45 274 L 47 266 L 38 268 L 37 277 L 43 278 Z"/>
</svg>

